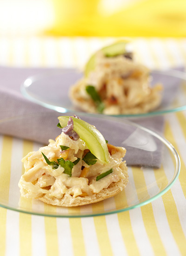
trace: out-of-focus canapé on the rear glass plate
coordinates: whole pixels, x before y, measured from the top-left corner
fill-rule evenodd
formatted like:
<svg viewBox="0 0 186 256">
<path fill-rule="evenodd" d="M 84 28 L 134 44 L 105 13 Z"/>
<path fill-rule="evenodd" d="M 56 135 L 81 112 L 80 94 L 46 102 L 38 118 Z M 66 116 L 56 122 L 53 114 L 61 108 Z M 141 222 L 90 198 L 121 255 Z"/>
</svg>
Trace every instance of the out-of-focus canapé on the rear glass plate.
<svg viewBox="0 0 186 256">
<path fill-rule="evenodd" d="M 94 54 L 84 77 L 70 88 L 74 105 L 106 115 L 150 112 L 161 102 L 162 85 L 150 86 L 150 70 L 133 60 L 126 42 L 118 42 Z"/>
</svg>

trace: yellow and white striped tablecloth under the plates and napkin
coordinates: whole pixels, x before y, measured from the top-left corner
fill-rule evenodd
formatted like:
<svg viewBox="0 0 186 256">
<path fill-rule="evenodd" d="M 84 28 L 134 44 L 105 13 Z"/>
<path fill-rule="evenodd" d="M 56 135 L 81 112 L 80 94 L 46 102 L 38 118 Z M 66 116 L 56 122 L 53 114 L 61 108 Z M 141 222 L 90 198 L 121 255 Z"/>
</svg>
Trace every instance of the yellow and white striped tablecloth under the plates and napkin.
<svg viewBox="0 0 186 256">
<path fill-rule="evenodd" d="M 0 38 L 0 65 L 83 67 L 91 53 L 113 41 L 113 38 Z M 186 66 L 186 39 L 134 38 L 132 42 L 139 60 L 152 69 Z M 140 208 L 86 218 L 43 217 L 0 208 L 0 256 L 186 255 L 186 111 L 168 114 L 165 119 L 164 136 L 181 160 L 179 178 L 166 194 Z M 17 186 L 24 171 L 17 158 L 37 148 L 36 143 L 0 135 L 0 181 L 3 181 L 0 193 Z M 164 167 L 167 177 L 170 164 L 167 162 Z M 3 173 L 4 166 L 16 168 L 20 173 L 15 176 Z M 135 182 L 132 178 L 131 182 Z M 143 182 L 146 184 L 145 175 Z M 10 201 L 16 197 L 5 195 Z M 26 200 L 20 204 L 33 207 Z M 106 207 L 104 202 L 101 207 Z"/>
</svg>

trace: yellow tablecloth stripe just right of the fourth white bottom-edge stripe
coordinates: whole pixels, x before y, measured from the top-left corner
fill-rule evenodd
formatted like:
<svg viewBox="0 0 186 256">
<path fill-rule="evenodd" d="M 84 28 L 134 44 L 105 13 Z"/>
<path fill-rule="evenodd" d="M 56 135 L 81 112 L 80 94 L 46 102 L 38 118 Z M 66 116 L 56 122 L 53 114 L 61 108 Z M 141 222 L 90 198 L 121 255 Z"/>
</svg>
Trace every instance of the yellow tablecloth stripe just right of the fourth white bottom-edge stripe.
<svg viewBox="0 0 186 256">
<path fill-rule="evenodd" d="M 93 212 L 104 211 L 103 202 L 93 203 Z M 96 229 L 96 234 L 98 237 L 98 243 L 100 246 L 100 252 L 102 256 L 112 256 L 113 251 L 110 243 L 110 239 L 108 236 L 108 229 L 106 226 L 106 218 L 105 216 L 96 216 L 93 217 L 94 225 Z"/>
</svg>

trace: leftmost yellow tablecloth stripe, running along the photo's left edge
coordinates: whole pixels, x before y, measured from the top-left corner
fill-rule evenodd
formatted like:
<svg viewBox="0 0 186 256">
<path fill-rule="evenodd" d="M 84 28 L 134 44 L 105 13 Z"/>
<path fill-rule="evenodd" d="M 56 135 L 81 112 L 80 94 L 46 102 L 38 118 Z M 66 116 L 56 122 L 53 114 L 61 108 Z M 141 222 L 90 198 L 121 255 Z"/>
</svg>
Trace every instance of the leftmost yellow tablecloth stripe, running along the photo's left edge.
<svg viewBox="0 0 186 256">
<path fill-rule="evenodd" d="M 7 202 L 9 197 L 12 145 L 13 139 L 11 137 L 4 136 L 0 161 L 0 194 L 3 195 L 3 198 Z M 7 210 L 0 208 L 0 216 L 0 253 L 5 255 Z"/>
</svg>

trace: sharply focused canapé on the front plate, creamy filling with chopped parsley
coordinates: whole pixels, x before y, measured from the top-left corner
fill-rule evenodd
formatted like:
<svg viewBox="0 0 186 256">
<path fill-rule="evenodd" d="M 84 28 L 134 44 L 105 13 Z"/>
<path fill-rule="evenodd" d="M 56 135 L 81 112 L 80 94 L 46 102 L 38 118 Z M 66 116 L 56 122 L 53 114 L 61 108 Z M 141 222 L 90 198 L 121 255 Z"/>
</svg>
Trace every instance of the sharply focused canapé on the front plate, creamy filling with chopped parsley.
<svg viewBox="0 0 186 256">
<path fill-rule="evenodd" d="M 128 182 L 126 149 L 77 116 L 60 116 L 61 134 L 22 162 L 20 193 L 58 206 L 79 206 L 118 194 Z"/>
</svg>

